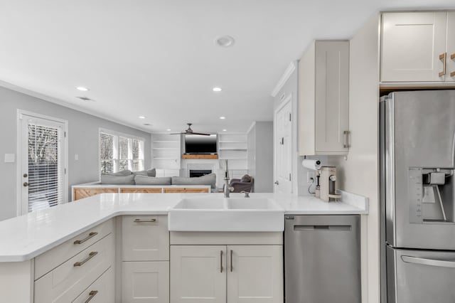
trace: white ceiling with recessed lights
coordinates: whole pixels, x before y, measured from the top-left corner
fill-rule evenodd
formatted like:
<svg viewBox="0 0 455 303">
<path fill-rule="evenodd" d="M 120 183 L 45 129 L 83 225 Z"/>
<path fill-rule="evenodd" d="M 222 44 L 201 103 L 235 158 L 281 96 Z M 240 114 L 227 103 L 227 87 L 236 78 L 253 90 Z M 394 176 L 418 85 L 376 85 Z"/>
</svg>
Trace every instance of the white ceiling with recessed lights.
<svg viewBox="0 0 455 303">
<path fill-rule="evenodd" d="M 180 131 L 186 122 L 196 132 L 245 132 L 272 120 L 270 92 L 314 38 L 350 38 L 379 10 L 450 6 L 454 0 L 0 0 L 0 80 L 148 132 Z M 221 35 L 235 46 L 215 46 Z M 215 85 L 223 92 L 212 92 Z M 83 95 L 96 102 L 76 98 Z"/>
</svg>

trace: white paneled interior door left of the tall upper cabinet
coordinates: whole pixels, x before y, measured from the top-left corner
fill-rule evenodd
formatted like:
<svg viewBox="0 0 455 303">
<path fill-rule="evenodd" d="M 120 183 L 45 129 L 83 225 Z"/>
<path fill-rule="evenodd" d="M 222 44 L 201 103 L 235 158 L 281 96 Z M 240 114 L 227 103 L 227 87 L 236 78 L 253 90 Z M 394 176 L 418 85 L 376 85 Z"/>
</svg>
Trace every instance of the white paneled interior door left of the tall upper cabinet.
<svg viewBox="0 0 455 303">
<path fill-rule="evenodd" d="M 292 105 L 291 99 L 275 114 L 275 177 L 274 192 L 291 193 L 292 182 Z"/>
</svg>

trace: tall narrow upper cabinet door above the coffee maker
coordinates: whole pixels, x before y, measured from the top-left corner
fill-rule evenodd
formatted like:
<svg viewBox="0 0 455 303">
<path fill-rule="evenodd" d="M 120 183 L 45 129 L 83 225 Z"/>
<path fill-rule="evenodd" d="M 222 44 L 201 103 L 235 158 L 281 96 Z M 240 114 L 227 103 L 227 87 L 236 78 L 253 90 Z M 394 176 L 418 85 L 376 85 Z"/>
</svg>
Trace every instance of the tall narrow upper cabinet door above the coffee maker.
<svg viewBox="0 0 455 303">
<path fill-rule="evenodd" d="M 349 41 L 316 41 L 316 154 L 348 152 Z"/>
</svg>

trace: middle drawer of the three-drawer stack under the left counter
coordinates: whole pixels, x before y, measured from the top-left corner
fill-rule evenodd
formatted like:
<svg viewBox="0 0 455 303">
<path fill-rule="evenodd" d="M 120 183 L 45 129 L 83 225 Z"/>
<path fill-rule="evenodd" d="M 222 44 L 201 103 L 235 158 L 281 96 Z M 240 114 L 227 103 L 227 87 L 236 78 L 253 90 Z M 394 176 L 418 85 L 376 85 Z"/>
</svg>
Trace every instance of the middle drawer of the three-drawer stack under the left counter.
<svg viewBox="0 0 455 303">
<path fill-rule="evenodd" d="M 71 302 L 114 263 L 114 235 L 89 248 L 35 281 L 35 303 Z"/>
</svg>

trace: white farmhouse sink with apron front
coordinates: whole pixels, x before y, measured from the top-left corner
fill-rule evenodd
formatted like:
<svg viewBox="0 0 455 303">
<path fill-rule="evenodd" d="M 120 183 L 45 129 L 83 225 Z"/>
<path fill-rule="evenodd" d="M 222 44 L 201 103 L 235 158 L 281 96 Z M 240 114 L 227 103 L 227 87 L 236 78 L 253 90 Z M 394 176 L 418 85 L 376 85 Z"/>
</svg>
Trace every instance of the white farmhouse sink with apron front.
<svg viewBox="0 0 455 303">
<path fill-rule="evenodd" d="M 284 209 L 269 198 L 186 198 L 168 213 L 171 231 L 282 231 Z"/>
</svg>

